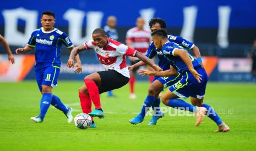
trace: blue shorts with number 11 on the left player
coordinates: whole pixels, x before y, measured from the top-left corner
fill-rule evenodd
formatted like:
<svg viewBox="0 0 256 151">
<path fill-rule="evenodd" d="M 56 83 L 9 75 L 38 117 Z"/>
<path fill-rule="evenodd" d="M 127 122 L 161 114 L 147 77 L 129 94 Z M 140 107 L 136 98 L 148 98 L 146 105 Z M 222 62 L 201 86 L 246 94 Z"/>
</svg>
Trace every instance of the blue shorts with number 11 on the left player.
<svg viewBox="0 0 256 151">
<path fill-rule="evenodd" d="M 42 85 L 48 85 L 52 88 L 57 86 L 57 79 L 60 68 L 47 66 L 36 70 L 36 82 L 39 90 L 42 91 Z"/>
</svg>

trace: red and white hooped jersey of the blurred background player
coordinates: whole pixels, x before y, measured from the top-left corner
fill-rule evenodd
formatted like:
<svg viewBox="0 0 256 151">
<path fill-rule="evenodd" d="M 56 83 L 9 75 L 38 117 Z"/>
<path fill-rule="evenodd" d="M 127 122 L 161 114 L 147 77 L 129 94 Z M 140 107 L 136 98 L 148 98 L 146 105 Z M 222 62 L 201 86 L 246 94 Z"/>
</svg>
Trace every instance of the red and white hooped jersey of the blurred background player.
<svg viewBox="0 0 256 151">
<path fill-rule="evenodd" d="M 133 27 L 127 31 L 126 43 L 132 43 L 132 48 L 138 50 L 140 53 L 146 53 L 150 41 L 151 33 L 149 31 L 139 30 L 137 27 Z"/>
</svg>

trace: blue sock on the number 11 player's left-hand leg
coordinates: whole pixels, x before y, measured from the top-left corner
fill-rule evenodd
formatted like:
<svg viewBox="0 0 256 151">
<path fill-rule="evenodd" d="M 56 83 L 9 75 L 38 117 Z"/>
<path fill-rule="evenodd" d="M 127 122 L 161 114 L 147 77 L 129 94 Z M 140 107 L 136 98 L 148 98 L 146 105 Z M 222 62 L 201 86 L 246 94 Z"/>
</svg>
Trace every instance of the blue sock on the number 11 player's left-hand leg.
<svg viewBox="0 0 256 151">
<path fill-rule="evenodd" d="M 52 94 L 45 93 L 42 95 L 41 104 L 40 104 L 40 116 L 45 118 L 45 114 L 51 104 Z"/>
</svg>

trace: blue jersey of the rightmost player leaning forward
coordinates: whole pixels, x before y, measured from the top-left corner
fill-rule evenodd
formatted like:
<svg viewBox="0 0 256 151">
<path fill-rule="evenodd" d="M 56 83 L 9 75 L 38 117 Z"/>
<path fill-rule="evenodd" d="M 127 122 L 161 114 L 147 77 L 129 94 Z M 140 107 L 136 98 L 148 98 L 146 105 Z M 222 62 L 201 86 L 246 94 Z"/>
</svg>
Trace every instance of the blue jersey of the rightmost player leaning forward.
<svg viewBox="0 0 256 151">
<path fill-rule="evenodd" d="M 175 51 L 175 49 L 183 49 L 184 51 L 186 51 L 188 53 L 188 51 L 186 49 L 180 47 L 177 43 L 171 43 L 171 42 L 165 43 L 161 51 L 162 51 L 162 54 L 164 54 L 164 56 L 166 57 L 166 59 L 170 62 L 170 65 L 172 65 L 173 68 L 175 68 L 177 70 L 177 72 L 183 73 L 184 71 L 188 71 L 188 67 L 184 63 L 184 61 L 181 59 L 181 57 L 173 55 L 173 52 Z M 192 61 L 194 68 L 201 66 L 198 63 L 197 59 L 195 59 L 189 53 L 188 53 L 188 55 Z"/>
</svg>

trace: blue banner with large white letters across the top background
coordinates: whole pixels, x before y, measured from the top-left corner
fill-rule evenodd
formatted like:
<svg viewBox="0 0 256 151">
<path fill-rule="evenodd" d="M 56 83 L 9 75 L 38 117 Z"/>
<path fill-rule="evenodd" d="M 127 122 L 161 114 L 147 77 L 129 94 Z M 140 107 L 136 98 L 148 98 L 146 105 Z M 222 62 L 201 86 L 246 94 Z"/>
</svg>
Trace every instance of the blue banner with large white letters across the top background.
<svg viewBox="0 0 256 151">
<path fill-rule="evenodd" d="M 148 22 L 159 17 L 166 20 L 169 33 L 195 43 L 218 44 L 227 48 L 234 43 L 252 43 L 256 38 L 256 1 L 253 0 L 184 0 L 184 1 L 7 1 L 0 4 L 0 33 L 11 46 L 28 42 L 32 31 L 41 27 L 45 10 L 56 14 L 55 27 L 67 32 L 74 44 L 91 38 L 95 28 L 106 25 L 110 15 L 117 18 L 119 40 L 135 26 L 138 17 Z M 149 29 L 148 25 L 145 25 Z"/>
</svg>

